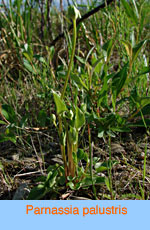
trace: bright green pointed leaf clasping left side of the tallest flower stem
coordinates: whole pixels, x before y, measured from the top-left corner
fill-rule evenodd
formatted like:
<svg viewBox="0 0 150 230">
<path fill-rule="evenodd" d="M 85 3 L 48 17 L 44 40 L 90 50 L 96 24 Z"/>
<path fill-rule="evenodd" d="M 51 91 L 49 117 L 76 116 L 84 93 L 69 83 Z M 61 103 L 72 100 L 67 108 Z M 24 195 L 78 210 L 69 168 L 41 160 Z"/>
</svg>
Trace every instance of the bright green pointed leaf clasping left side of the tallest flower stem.
<svg viewBox="0 0 150 230">
<path fill-rule="evenodd" d="M 53 97 L 54 97 L 54 101 L 55 101 L 55 104 L 56 104 L 57 114 L 61 114 L 61 113 L 65 112 L 65 111 L 67 111 L 67 107 L 65 105 L 65 102 L 54 91 L 53 91 Z"/>
</svg>

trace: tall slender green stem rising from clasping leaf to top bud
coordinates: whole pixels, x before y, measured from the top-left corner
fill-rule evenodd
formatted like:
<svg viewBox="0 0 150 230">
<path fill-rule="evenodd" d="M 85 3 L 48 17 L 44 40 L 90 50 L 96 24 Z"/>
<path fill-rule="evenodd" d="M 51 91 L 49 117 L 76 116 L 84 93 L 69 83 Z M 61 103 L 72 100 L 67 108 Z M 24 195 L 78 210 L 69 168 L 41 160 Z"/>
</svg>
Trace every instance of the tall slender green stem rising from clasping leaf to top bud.
<svg viewBox="0 0 150 230">
<path fill-rule="evenodd" d="M 66 92 L 66 88 L 67 88 L 67 84 L 68 84 L 68 80 L 69 80 L 69 76 L 70 76 L 70 72 L 71 72 L 71 67 L 72 67 L 73 59 L 74 59 L 74 55 L 75 55 L 76 40 L 77 40 L 77 26 L 76 26 L 76 19 L 74 19 L 73 20 L 72 52 L 71 52 L 71 58 L 70 58 L 70 62 L 69 62 L 67 76 L 66 76 L 66 79 L 65 79 L 64 88 L 63 88 L 63 91 L 61 93 L 61 99 L 63 99 L 64 96 L 65 96 L 65 92 Z"/>
</svg>

